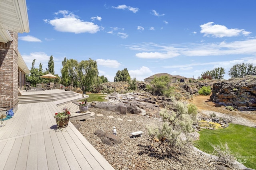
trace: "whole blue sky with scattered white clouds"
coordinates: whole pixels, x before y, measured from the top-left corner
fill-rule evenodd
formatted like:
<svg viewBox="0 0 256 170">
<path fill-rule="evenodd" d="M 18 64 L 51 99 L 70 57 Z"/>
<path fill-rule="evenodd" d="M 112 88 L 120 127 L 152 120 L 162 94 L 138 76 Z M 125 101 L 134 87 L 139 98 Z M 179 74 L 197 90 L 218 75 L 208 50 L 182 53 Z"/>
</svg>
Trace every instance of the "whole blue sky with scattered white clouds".
<svg viewBox="0 0 256 170">
<path fill-rule="evenodd" d="M 118 70 L 144 81 L 156 73 L 197 78 L 217 67 L 256 66 L 255 0 L 26 0 L 29 33 L 18 49 L 31 67 L 60 74 L 64 57 L 97 61 L 110 82 Z"/>
</svg>

